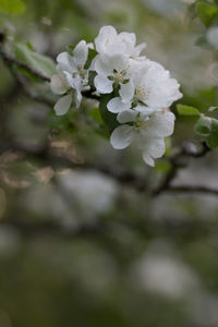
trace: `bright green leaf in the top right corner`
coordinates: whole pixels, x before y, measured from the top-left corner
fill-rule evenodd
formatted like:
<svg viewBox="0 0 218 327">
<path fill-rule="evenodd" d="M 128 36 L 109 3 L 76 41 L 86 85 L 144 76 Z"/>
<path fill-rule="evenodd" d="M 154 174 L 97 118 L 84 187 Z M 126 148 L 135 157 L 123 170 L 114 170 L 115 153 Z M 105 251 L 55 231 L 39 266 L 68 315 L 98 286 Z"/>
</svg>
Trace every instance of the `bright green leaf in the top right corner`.
<svg viewBox="0 0 218 327">
<path fill-rule="evenodd" d="M 197 2 L 195 8 L 197 16 L 207 27 L 218 19 L 218 8 L 216 5 L 205 2 Z"/>
</svg>

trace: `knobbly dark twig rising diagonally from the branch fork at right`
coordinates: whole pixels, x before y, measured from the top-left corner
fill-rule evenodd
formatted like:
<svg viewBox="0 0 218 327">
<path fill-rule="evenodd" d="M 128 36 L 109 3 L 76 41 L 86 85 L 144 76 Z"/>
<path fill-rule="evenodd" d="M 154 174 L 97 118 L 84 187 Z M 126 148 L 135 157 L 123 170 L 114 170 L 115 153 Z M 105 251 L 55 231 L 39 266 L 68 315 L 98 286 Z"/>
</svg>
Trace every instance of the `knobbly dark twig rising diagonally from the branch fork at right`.
<svg viewBox="0 0 218 327">
<path fill-rule="evenodd" d="M 196 150 L 196 148 L 193 148 L 192 143 L 183 144 L 181 146 L 180 152 L 169 159 L 170 164 L 171 164 L 170 171 L 164 178 L 160 185 L 155 191 L 153 191 L 153 195 L 155 196 L 155 195 L 159 195 L 160 193 L 162 193 L 165 191 L 170 191 L 173 187 L 171 185 L 171 183 L 177 178 L 179 170 L 181 168 L 187 167 L 191 158 L 204 157 L 204 156 L 206 156 L 206 154 L 208 152 L 209 152 L 209 148 L 205 142 L 202 142 L 202 148 L 199 150 Z M 178 190 L 178 192 L 179 192 L 179 190 Z"/>
</svg>

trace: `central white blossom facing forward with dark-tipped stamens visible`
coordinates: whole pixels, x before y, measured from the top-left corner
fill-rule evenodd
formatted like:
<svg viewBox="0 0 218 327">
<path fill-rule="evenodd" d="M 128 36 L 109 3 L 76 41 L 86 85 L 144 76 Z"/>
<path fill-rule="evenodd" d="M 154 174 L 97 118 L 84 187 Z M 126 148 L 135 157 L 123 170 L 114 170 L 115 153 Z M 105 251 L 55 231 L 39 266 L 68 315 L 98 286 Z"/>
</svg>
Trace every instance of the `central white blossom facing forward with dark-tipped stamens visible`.
<svg viewBox="0 0 218 327">
<path fill-rule="evenodd" d="M 120 85 L 120 95 L 123 100 L 130 101 L 134 94 L 134 85 L 129 72 L 129 57 L 126 55 L 97 56 L 95 60 L 97 75 L 94 80 L 95 87 L 100 94 L 113 90 L 113 83 Z"/>
</svg>

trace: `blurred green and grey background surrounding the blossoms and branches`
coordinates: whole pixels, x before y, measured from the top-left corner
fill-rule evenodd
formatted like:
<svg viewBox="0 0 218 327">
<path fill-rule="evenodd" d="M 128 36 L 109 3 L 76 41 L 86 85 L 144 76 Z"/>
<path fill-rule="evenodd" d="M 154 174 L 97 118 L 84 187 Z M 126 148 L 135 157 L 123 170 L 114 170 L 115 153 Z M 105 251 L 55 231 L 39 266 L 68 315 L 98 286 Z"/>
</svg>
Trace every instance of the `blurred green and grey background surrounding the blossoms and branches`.
<svg viewBox="0 0 218 327">
<path fill-rule="evenodd" d="M 0 26 L 53 59 L 102 25 L 134 32 L 178 78 L 181 101 L 204 112 L 217 106 L 218 70 L 196 44 L 194 2 L 26 0 Z M 0 326 L 217 327 L 217 197 L 152 196 L 168 158 L 150 169 L 134 148 L 114 150 L 93 128 L 95 100 L 58 118 L 47 83 L 27 94 L 2 60 L 0 71 Z M 193 123 L 178 117 L 169 142 L 190 140 Z M 218 186 L 217 158 L 192 159 L 174 184 Z"/>
</svg>

